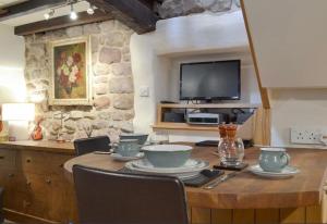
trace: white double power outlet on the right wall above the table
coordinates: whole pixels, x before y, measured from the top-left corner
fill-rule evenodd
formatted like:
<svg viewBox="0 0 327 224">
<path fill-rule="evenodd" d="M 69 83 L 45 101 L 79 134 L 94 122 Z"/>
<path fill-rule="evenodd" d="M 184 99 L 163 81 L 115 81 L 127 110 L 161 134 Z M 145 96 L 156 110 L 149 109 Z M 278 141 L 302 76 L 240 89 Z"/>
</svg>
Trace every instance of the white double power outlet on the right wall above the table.
<svg viewBox="0 0 327 224">
<path fill-rule="evenodd" d="M 320 137 L 323 130 L 320 128 L 291 128 L 291 142 L 292 144 L 311 144 L 322 145 Z"/>
</svg>

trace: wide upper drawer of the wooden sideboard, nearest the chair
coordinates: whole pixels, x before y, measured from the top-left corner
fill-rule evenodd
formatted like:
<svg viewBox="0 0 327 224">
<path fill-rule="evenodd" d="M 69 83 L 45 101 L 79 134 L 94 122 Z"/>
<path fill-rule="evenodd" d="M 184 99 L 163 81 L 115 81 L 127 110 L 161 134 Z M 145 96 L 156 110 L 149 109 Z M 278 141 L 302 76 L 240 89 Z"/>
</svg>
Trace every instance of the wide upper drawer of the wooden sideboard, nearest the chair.
<svg viewBox="0 0 327 224">
<path fill-rule="evenodd" d="M 48 152 L 34 152 L 22 151 L 19 157 L 19 164 L 23 173 L 34 174 L 63 174 L 63 164 L 72 157 L 48 153 Z"/>
</svg>

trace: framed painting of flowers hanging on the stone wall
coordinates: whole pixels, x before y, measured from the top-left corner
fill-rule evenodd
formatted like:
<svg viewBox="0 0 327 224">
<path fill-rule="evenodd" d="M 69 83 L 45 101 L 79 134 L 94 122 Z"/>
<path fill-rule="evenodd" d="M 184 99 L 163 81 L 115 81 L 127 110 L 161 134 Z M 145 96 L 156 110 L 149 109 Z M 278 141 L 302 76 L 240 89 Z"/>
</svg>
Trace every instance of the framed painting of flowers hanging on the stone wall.
<svg viewBox="0 0 327 224">
<path fill-rule="evenodd" d="M 90 47 L 88 37 L 53 41 L 51 49 L 52 105 L 90 105 Z"/>
</svg>

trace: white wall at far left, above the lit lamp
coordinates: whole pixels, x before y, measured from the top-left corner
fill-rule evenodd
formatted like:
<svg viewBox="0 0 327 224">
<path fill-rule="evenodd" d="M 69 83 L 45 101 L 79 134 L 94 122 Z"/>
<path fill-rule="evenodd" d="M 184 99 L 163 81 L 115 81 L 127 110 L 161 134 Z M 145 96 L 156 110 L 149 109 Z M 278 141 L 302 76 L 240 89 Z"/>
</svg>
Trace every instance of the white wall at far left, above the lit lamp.
<svg viewBox="0 0 327 224">
<path fill-rule="evenodd" d="M 26 98 L 24 52 L 23 37 L 15 36 L 13 27 L 0 24 L 0 104 Z"/>
</svg>

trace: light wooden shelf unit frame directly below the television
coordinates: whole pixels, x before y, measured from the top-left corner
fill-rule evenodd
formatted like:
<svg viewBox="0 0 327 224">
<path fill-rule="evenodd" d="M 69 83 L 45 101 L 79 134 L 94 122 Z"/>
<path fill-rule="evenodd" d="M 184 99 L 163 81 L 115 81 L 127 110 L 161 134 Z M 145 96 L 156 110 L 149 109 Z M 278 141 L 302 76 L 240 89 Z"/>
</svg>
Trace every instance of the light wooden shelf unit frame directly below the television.
<svg viewBox="0 0 327 224">
<path fill-rule="evenodd" d="M 153 125 L 154 130 L 197 130 L 197 132 L 218 132 L 218 125 L 191 125 L 187 123 L 164 122 L 164 113 L 173 109 L 257 109 L 259 104 L 249 103 L 210 103 L 210 104 L 179 104 L 166 103 L 157 107 L 157 122 Z"/>
</svg>

